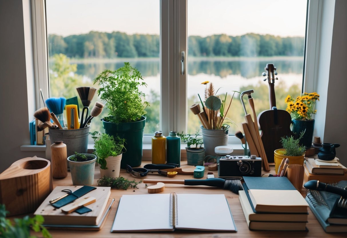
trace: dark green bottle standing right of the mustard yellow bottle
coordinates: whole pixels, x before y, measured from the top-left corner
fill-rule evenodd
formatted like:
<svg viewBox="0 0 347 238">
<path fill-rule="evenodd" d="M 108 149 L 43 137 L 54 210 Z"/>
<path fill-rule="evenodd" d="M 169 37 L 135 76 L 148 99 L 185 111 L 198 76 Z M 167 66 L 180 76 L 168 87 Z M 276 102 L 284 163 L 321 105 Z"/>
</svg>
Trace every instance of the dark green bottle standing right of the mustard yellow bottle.
<svg viewBox="0 0 347 238">
<path fill-rule="evenodd" d="M 181 137 L 177 136 L 176 131 L 170 131 L 166 137 L 166 161 L 179 166 L 181 164 Z"/>
</svg>

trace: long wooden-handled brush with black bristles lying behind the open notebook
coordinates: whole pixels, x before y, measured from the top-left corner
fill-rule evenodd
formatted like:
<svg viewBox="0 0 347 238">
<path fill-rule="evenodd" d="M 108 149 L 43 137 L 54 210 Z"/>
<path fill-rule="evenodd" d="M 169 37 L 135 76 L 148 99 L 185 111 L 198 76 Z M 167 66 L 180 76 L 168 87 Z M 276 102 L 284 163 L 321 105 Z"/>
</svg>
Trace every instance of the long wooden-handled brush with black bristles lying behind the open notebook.
<svg viewBox="0 0 347 238">
<path fill-rule="evenodd" d="M 163 182 L 164 184 L 184 184 L 184 185 L 205 185 L 210 187 L 219 187 L 230 190 L 238 194 L 239 190 L 243 190 L 240 179 L 222 179 L 222 178 L 209 178 L 209 179 L 181 179 L 181 180 L 168 180 L 168 179 L 144 179 L 145 184 L 156 184 Z"/>
</svg>

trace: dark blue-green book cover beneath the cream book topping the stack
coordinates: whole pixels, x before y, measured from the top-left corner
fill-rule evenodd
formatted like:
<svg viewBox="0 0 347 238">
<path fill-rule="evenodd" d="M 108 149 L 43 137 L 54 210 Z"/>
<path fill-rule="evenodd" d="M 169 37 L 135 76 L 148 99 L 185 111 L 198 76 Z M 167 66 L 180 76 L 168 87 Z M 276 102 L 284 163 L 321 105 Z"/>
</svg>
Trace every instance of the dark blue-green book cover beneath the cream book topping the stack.
<svg viewBox="0 0 347 238">
<path fill-rule="evenodd" d="M 257 212 L 255 210 L 251 197 L 249 197 L 248 189 L 296 190 L 287 177 L 243 177 L 243 180 L 245 182 L 242 186 L 254 213 L 265 212 Z"/>
</svg>

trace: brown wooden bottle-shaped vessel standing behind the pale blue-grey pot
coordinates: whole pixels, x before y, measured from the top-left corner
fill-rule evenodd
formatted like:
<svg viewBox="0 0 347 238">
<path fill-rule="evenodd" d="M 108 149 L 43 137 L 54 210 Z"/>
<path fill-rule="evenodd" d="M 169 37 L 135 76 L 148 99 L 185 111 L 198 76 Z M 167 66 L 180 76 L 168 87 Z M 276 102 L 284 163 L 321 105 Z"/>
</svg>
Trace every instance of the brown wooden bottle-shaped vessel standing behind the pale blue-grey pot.
<svg viewBox="0 0 347 238">
<path fill-rule="evenodd" d="M 51 144 L 51 168 L 53 178 L 65 178 L 67 176 L 67 150 L 62 141 Z"/>
</svg>

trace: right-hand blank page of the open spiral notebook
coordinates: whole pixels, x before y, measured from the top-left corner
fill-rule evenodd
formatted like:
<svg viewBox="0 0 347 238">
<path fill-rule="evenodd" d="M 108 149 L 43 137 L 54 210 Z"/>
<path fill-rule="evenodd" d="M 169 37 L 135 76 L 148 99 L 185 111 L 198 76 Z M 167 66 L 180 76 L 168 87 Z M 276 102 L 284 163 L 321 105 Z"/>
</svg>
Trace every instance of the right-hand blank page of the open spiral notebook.
<svg viewBox="0 0 347 238">
<path fill-rule="evenodd" d="M 235 231 L 224 194 L 178 194 L 176 229 Z"/>
</svg>

